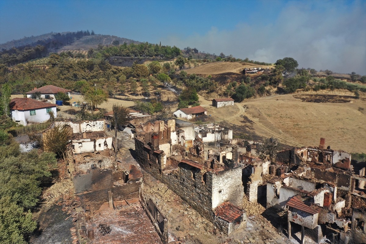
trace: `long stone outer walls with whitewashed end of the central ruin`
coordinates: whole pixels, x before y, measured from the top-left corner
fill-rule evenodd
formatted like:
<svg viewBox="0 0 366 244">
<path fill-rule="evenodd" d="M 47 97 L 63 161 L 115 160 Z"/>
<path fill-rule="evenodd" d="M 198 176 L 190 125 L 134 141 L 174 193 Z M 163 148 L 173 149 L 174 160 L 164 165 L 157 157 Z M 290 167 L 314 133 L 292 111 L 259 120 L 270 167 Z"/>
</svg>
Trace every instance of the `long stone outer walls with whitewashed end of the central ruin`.
<svg viewBox="0 0 366 244">
<path fill-rule="evenodd" d="M 149 150 L 138 138 L 135 138 L 135 150 L 136 160 L 141 168 L 168 185 L 173 192 L 210 221 L 214 221 L 213 208 L 219 204 L 225 201 L 230 201 L 238 206 L 242 204 L 241 167 L 214 174 L 179 163 L 178 169 L 164 173 L 160 162 L 165 154 L 154 153 L 153 147 Z"/>
</svg>

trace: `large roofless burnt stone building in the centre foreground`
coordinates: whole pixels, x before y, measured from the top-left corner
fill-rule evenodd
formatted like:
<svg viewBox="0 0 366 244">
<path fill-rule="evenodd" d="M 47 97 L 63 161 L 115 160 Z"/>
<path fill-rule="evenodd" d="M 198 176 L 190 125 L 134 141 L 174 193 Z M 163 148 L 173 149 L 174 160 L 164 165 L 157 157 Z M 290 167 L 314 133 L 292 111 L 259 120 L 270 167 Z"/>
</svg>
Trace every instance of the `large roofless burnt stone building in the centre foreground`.
<svg viewBox="0 0 366 244">
<path fill-rule="evenodd" d="M 183 130 L 185 129 L 185 130 Z M 243 226 L 242 166 L 231 150 L 206 150 L 194 127 L 175 120 L 136 127 L 135 150 L 142 169 L 168 185 L 224 233 Z"/>
</svg>

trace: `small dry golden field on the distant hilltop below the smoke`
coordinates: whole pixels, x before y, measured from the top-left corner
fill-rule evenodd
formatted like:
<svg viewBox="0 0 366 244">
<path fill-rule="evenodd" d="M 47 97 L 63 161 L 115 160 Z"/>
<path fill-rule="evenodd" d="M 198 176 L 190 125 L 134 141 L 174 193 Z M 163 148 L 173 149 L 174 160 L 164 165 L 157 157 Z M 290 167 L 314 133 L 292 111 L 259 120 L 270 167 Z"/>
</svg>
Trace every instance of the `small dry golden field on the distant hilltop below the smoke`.
<svg viewBox="0 0 366 244">
<path fill-rule="evenodd" d="M 185 70 L 188 74 L 218 75 L 224 73 L 242 74 L 244 68 L 273 68 L 274 66 L 259 65 L 244 62 L 215 62 L 203 64 L 198 67 Z"/>
</svg>

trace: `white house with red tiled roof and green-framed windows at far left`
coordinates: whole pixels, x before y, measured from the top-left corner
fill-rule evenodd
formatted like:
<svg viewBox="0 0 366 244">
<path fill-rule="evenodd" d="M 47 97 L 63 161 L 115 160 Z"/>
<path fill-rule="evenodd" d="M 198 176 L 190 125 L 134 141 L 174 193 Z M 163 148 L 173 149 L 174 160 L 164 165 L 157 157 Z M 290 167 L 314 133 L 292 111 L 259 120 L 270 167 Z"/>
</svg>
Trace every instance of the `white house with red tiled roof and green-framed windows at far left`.
<svg viewBox="0 0 366 244">
<path fill-rule="evenodd" d="M 56 105 L 31 98 L 13 98 L 10 101 L 12 119 L 22 125 L 42 123 L 49 120 L 49 112 L 57 117 Z"/>
</svg>

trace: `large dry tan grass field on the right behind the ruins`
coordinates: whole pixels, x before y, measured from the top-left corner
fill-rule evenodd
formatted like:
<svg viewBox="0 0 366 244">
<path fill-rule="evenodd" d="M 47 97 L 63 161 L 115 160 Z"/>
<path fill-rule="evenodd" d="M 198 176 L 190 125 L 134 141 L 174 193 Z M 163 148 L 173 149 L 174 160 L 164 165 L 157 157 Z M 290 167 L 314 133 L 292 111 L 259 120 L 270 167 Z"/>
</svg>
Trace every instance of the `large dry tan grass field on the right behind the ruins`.
<svg viewBox="0 0 366 244">
<path fill-rule="evenodd" d="M 353 94 L 344 91 L 340 95 Z M 318 103 L 303 102 L 287 94 L 249 99 L 222 108 L 212 107 L 211 101 L 202 97 L 200 101 L 216 121 L 227 120 L 261 137 L 275 136 L 297 147 L 318 146 L 323 137 L 331 149 L 366 153 L 365 98 Z"/>
</svg>

